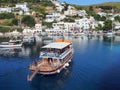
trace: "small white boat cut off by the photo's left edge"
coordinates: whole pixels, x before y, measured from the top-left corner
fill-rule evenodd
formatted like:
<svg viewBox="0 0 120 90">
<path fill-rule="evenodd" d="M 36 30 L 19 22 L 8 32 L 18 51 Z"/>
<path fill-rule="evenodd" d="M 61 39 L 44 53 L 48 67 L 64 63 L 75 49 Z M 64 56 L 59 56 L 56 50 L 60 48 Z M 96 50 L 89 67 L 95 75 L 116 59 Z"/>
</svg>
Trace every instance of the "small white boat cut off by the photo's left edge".
<svg viewBox="0 0 120 90">
<path fill-rule="evenodd" d="M 13 47 L 21 47 L 22 42 L 21 40 L 10 40 L 9 42 L 1 42 L 1 48 L 13 48 Z"/>
</svg>

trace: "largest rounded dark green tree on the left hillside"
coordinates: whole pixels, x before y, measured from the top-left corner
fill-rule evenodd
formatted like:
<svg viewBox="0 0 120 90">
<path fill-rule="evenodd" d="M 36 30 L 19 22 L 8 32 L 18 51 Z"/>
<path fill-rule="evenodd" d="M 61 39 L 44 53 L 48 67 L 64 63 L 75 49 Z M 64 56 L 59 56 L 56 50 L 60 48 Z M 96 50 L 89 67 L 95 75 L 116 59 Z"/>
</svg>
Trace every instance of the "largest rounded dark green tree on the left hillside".
<svg viewBox="0 0 120 90">
<path fill-rule="evenodd" d="M 25 26 L 33 27 L 35 25 L 35 20 L 32 16 L 26 15 L 22 18 L 22 23 Z"/>
</svg>

